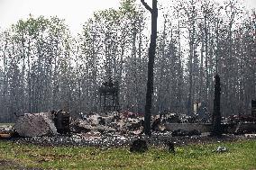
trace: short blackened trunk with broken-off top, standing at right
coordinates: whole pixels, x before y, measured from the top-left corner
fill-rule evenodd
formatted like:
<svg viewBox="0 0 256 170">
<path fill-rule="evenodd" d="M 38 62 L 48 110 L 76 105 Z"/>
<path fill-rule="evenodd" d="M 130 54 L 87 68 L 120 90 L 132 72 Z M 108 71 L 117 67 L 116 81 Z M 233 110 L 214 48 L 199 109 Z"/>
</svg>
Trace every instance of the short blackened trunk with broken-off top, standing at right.
<svg viewBox="0 0 256 170">
<path fill-rule="evenodd" d="M 222 134 L 221 127 L 221 111 L 220 111 L 220 101 L 221 101 L 221 83 L 220 76 L 215 76 L 215 100 L 214 100 L 214 112 L 213 112 L 213 131 L 212 135 L 218 136 Z"/>
</svg>

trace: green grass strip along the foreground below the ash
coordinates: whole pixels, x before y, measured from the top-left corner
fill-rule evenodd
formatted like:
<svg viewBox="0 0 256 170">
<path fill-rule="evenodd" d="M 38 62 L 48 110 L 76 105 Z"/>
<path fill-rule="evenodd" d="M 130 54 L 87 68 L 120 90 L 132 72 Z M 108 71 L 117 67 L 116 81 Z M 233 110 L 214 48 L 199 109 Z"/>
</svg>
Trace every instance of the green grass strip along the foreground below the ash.
<svg viewBox="0 0 256 170">
<path fill-rule="evenodd" d="M 216 153 L 218 146 L 227 152 Z M 9 163 L 13 163 L 13 166 Z M 256 169 L 256 140 L 176 148 L 150 148 L 143 154 L 128 148 L 40 147 L 0 141 L 0 169 Z"/>
</svg>

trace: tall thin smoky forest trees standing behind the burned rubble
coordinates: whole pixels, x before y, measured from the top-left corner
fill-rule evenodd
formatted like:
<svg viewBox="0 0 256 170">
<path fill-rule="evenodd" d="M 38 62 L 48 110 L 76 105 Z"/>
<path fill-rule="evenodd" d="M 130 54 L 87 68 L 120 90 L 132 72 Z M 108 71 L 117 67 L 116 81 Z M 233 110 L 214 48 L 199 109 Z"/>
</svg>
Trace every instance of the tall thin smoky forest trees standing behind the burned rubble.
<svg viewBox="0 0 256 170">
<path fill-rule="evenodd" d="M 216 74 L 222 115 L 251 114 L 255 11 L 239 1 L 177 1 L 159 8 L 152 114 L 211 119 Z M 52 110 L 74 117 L 103 112 L 99 89 L 109 79 L 118 85 L 114 111 L 143 114 L 151 38 L 146 10 L 133 0 L 121 1 L 118 9 L 96 12 L 77 36 L 58 17 L 30 15 L 2 29 L 1 121 Z"/>
</svg>

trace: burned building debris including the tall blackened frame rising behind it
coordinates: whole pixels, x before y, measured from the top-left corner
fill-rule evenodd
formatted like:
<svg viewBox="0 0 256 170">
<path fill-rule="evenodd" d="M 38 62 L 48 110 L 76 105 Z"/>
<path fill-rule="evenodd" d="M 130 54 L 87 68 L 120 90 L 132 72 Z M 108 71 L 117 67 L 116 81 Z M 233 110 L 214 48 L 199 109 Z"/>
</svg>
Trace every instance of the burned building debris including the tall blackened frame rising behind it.
<svg viewBox="0 0 256 170">
<path fill-rule="evenodd" d="M 43 142 L 50 143 L 50 145 L 55 142 L 89 146 L 129 145 L 132 152 L 141 152 L 140 149 L 147 150 L 144 142 L 138 140 L 142 139 L 144 141 L 145 139 L 148 141 L 143 136 L 144 120 L 142 115 L 133 112 L 111 111 L 119 107 L 118 102 L 115 101 L 118 99 L 117 86 L 111 82 L 110 80 L 105 86 L 113 87 L 112 90 L 111 88 L 103 88 L 101 91 L 103 94 L 110 94 L 109 96 L 115 95 L 115 97 L 110 97 L 110 103 L 104 103 L 105 97 L 101 96 L 103 100 L 101 106 L 105 112 L 87 113 L 81 119 L 72 119 L 69 112 L 63 111 L 25 113 L 19 117 L 14 129 L 10 131 L 5 129 L 1 131 L 0 129 L 0 134 L 4 134 L 3 137 L 5 137 L 5 134 L 11 136 L 10 134 L 16 132 L 19 136 L 25 137 L 27 141 L 36 142 L 40 139 Z M 109 97 L 107 95 L 106 98 Z M 253 111 L 254 105 L 251 103 L 252 115 Z M 255 133 L 256 118 L 252 115 L 220 117 L 220 126 L 222 126 L 225 134 Z M 153 115 L 151 120 L 153 138 L 197 139 L 204 138 L 207 133 L 213 131 L 212 124 L 197 115 L 187 116 L 185 114 L 164 112 Z M 0 135 L 0 138 L 3 137 Z M 169 152 L 173 152 L 173 146 L 170 143 L 168 147 Z"/>
</svg>

